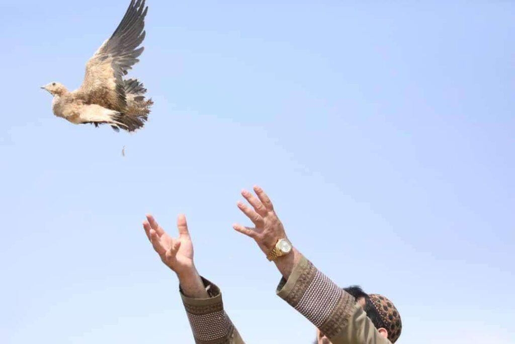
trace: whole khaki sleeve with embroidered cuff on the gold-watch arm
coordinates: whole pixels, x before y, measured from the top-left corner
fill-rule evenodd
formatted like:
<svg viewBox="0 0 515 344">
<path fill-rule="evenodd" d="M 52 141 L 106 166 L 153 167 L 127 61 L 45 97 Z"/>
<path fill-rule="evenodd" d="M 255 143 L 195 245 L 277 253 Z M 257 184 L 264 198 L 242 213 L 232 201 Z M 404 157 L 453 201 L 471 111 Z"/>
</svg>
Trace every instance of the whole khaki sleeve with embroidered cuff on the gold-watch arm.
<svg viewBox="0 0 515 344">
<path fill-rule="evenodd" d="M 354 297 L 302 257 L 277 294 L 311 321 L 333 344 L 387 344 Z"/>
</svg>

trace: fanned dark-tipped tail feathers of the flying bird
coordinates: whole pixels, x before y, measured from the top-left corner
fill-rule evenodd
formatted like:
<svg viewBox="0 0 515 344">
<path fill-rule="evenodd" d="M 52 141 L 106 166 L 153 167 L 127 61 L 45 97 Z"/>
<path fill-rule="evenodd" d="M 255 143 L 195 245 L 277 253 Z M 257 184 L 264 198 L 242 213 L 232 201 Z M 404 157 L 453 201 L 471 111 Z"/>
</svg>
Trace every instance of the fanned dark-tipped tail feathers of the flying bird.
<svg viewBox="0 0 515 344">
<path fill-rule="evenodd" d="M 128 132 L 133 132 L 145 125 L 150 113 L 150 107 L 154 102 L 151 99 L 146 99 L 143 94 L 147 90 L 143 84 L 136 79 L 124 80 L 125 96 L 127 100 L 127 107 L 123 111 L 118 121 L 122 122 L 126 127 L 122 129 Z"/>
</svg>

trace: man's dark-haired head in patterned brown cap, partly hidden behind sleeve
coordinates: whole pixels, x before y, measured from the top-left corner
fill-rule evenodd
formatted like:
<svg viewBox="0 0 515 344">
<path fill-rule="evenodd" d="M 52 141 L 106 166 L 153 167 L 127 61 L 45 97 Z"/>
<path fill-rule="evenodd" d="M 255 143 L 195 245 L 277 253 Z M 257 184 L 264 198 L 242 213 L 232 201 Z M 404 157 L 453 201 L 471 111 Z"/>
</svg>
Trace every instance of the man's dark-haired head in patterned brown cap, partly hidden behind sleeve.
<svg viewBox="0 0 515 344">
<path fill-rule="evenodd" d="M 379 333 L 394 343 L 401 335 L 401 316 L 393 303 L 379 294 L 367 294 L 358 286 L 344 288 L 351 294 L 356 303 L 363 308 L 367 317 L 372 321 Z M 330 344 L 331 342 L 317 330 L 316 344 Z"/>
</svg>

